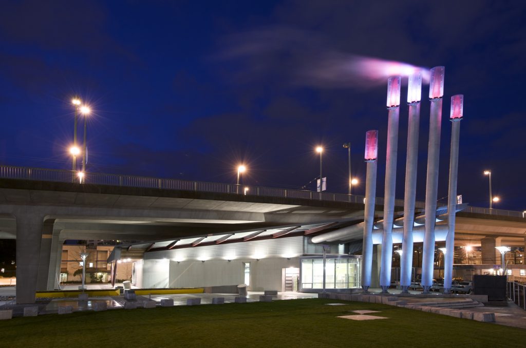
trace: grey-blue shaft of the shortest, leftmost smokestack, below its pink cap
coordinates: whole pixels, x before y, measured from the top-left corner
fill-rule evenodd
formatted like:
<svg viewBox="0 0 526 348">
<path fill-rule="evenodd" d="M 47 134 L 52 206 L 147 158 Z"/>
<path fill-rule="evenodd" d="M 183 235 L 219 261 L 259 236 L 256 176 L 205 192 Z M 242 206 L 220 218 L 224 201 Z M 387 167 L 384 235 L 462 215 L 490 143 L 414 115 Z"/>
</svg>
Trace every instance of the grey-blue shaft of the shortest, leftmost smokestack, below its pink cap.
<svg viewBox="0 0 526 348">
<path fill-rule="evenodd" d="M 376 198 L 376 161 L 367 162 L 367 179 L 365 194 L 365 215 L 363 226 L 362 248 L 362 289 L 367 292 L 371 286 L 372 273 L 372 226 L 375 223 L 375 198 Z"/>
</svg>

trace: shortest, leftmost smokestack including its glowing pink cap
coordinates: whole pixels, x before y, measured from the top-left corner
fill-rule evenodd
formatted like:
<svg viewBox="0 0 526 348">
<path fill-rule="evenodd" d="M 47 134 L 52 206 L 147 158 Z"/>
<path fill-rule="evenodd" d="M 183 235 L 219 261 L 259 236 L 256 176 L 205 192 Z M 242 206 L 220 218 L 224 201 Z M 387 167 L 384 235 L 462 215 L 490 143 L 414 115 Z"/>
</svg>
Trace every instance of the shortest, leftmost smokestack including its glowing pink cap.
<svg viewBox="0 0 526 348">
<path fill-rule="evenodd" d="M 378 130 L 366 133 L 365 160 L 367 178 L 365 184 L 365 212 L 363 219 L 362 289 L 367 293 L 372 273 L 372 227 L 375 223 L 376 171 L 378 158 Z"/>
</svg>

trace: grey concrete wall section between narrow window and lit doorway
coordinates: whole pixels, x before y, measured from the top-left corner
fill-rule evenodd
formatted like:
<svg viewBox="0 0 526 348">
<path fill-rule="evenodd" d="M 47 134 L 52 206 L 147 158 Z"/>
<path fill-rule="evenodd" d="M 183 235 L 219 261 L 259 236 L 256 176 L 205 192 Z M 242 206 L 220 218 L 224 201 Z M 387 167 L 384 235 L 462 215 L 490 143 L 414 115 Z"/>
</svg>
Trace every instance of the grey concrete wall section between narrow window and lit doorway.
<svg viewBox="0 0 526 348">
<path fill-rule="evenodd" d="M 278 290 L 282 288 L 282 269 L 299 268 L 299 258 L 260 259 L 250 261 L 250 291 Z"/>
</svg>

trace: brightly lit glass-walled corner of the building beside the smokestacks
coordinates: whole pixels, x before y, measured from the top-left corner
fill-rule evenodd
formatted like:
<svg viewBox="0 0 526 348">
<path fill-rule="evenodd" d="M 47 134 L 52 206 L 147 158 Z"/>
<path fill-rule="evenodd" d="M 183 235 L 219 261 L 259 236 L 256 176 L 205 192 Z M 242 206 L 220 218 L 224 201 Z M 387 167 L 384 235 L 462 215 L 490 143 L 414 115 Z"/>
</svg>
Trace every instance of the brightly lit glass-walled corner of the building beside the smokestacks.
<svg viewBox="0 0 526 348">
<path fill-rule="evenodd" d="M 323 289 L 323 258 L 302 257 L 301 290 Z M 360 288 L 361 258 L 341 255 L 327 257 L 325 263 L 325 289 Z"/>
</svg>

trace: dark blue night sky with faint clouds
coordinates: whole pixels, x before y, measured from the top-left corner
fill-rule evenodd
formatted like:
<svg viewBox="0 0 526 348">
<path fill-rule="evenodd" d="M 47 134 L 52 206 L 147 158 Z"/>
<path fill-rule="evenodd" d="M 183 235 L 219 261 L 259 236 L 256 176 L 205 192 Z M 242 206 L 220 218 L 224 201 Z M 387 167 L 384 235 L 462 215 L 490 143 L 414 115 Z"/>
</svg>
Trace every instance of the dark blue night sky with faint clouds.
<svg viewBox="0 0 526 348">
<path fill-rule="evenodd" d="M 450 97 L 463 94 L 458 193 L 487 207 L 482 172 L 491 169 L 494 208 L 522 211 L 525 23 L 522 1 L 4 0 L 0 164 L 70 169 L 78 95 L 94 110 L 88 171 L 234 183 L 244 162 L 247 185 L 300 188 L 319 175 L 322 144 L 328 191 L 347 192 L 350 141 L 363 194 L 365 132 L 379 129 L 381 197 L 387 76 L 360 64 L 444 65 L 438 197 L 448 189 Z M 424 86 L 420 200 L 427 95 Z M 402 103 L 397 198 L 407 110 Z"/>
</svg>

